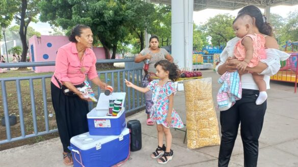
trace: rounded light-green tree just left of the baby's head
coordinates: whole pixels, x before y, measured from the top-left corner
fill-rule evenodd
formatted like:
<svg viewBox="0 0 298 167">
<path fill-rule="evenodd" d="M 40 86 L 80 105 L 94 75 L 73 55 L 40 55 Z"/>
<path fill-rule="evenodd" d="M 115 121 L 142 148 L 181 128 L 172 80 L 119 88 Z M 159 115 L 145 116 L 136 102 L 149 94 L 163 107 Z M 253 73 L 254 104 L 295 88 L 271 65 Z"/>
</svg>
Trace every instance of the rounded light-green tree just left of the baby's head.
<svg viewBox="0 0 298 167">
<path fill-rule="evenodd" d="M 232 28 L 233 20 L 234 17 L 229 14 L 219 14 L 208 19 L 202 28 L 205 29 L 206 34 L 212 38 L 212 45 L 225 45 L 229 40 L 235 37 Z"/>
</svg>

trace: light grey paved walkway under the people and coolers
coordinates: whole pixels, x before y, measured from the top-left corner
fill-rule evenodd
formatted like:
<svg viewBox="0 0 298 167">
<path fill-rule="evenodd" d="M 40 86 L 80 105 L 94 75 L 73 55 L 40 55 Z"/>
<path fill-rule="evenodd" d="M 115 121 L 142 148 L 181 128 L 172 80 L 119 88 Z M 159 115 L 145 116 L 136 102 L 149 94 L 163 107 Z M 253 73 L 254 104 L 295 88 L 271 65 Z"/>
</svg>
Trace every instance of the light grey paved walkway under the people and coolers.
<svg viewBox="0 0 298 167">
<path fill-rule="evenodd" d="M 213 97 L 219 89 L 219 78 L 211 70 L 203 71 L 204 77 L 213 79 Z M 268 105 L 261 137 L 259 139 L 259 160 L 261 167 L 298 166 L 298 93 L 293 84 L 272 82 L 268 90 Z M 184 93 L 178 92 L 174 98 L 174 107 L 185 122 Z M 219 118 L 219 112 L 216 112 Z M 155 126 L 146 125 L 144 112 L 134 114 L 127 120 L 138 119 L 142 123 L 142 144 L 140 151 L 131 152 L 130 160 L 122 166 L 217 166 L 219 146 L 200 149 L 187 149 L 183 144 L 184 132 L 172 130 L 173 160 L 160 165 L 150 158 L 150 153 L 157 146 Z M 239 133 L 238 133 L 239 134 Z M 62 145 L 60 139 L 52 139 L 34 145 L 27 145 L 0 152 L 0 166 L 65 166 L 62 162 Z M 230 165 L 243 166 L 243 149 L 238 135 L 232 153 Z"/>
</svg>

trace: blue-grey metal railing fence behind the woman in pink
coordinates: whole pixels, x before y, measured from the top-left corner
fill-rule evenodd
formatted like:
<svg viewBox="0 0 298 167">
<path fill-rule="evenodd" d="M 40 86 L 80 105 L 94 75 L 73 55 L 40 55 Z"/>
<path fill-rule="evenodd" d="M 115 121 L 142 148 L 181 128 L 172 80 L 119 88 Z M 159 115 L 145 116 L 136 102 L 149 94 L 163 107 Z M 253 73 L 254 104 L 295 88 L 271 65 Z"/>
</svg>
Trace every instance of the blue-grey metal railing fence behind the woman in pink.
<svg viewBox="0 0 298 167">
<path fill-rule="evenodd" d="M 96 63 L 114 62 L 131 63 L 133 62 L 133 59 L 97 60 Z M 49 65 L 55 65 L 55 62 L 0 63 L 0 68 L 21 68 Z M 51 113 L 53 113 L 53 109 L 51 101 L 49 100 L 51 76 L 52 75 L 0 78 L 0 93 L 2 96 L 2 108 L 0 110 L 0 116 L 4 116 L 6 125 L 5 130 L 2 127 L 3 131 L 0 132 L 0 145 L 27 138 L 42 136 L 58 131 L 58 129 L 56 128 L 56 120 L 51 115 Z M 136 111 L 145 107 L 144 94 L 126 87 L 124 81 L 124 79 L 127 79 L 128 81 L 141 86 L 142 68 L 136 66 L 136 68 L 129 69 L 99 71 L 98 76 L 102 81 L 113 86 L 115 92 L 127 93 L 124 104 L 126 113 Z M 97 97 L 99 97 L 99 94 L 100 92 L 102 92 L 102 90 L 96 85 L 92 85 L 91 82 L 90 84 L 95 94 L 97 94 Z M 7 93 L 8 91 L 10 92 L 9 94 Z M 24 104 L 24 98 L 28 99 L 30 103 Z M 14 102 L 10 102 L 10 99 L 13 99 L 12 101 Z M 42 104 L 42 106 L 37 106 L 37 101 L 39 101 L 39 104 Z M 15 107 L 14 111 L 11 111 L 10 108 L 12 108 L 13 106 Z M 89 103 L 90 110 L 93 109 L 95 106 L 96 104 L 93 104 L 92 102 Z M 18 128 L 9 126 L 9 117 L 10 114 L 12 114 L 13 112 L 17 112 L 18 115 L 19 122 L 18 124 L 14 125 Z M 49 119 L 51 119 L 50 121 L 52 122 L 52 124 L 55 124 L 55 126 L 49 125 Z M 31 129 L 28 128 L 30 126 L 32 127 Z M 14 129 L 18 129 L 19 132 L 16 133 L 15 131 L 13 131 Z"/>
</svg>

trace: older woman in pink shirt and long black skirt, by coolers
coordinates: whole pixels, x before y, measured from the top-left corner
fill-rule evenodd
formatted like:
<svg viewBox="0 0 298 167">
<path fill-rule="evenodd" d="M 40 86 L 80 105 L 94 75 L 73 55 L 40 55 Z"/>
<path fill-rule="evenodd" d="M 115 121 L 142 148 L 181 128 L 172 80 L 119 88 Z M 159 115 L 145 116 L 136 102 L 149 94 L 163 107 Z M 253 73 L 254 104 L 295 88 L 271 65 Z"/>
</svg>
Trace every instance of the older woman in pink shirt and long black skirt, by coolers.
<svg viewBox="0 0 298 167">
<path fill-rule="evenodd" d="M 87 113 L 89 98 L 84 97 L 76 87 L 83 87 L 86 75 L 89 80 L 106 88 L 95 68 L 96 57 L 92 49 L 93 34 L 89 26 L 76 25 L 69 37 L 70 43 L 58 49 L 56 69 L 51 78 L 51 97 L 56 114 L 60 139 L 63 145 L 64 164 L 72 165 L 70 138 L 88 131 Z M 76 96 L 64 94 L 61 86 L 66 86 Z"/>
</svg>

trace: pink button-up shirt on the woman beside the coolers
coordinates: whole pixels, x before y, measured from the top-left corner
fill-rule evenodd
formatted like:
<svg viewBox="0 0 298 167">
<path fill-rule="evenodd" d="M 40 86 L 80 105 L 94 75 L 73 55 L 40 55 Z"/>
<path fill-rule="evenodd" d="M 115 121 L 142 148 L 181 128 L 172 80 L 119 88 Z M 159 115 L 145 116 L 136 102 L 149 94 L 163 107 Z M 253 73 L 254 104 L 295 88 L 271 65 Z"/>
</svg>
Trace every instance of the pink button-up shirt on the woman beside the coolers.
<svg viewBox="0 0 298 167">
<path fill-rule="evenodd" d="M 56 56 L 55 73 L 51 82 L 60 88 L 54 76 L 62 83 L 71 82 L 73 85 L 82 84 L 86 74 L 90 80 L 97 77 L 95 68 L 96 57 L 92 49 L 87 48 L 82 61 L 79 61 L 75 43 L 70 42 L 58 49 Z M 85 72 L 81 69 L 85 68 Z"/>
</svg>

